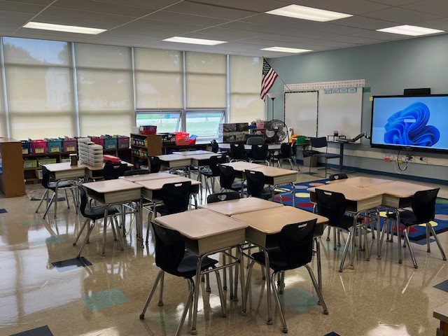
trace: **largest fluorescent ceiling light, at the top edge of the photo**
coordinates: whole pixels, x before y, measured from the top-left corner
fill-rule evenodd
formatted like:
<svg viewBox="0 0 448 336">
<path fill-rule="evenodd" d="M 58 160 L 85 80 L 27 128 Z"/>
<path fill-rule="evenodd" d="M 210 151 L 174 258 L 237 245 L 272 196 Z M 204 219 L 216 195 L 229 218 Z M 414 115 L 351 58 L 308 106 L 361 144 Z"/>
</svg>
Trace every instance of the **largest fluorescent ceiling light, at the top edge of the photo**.
<svg viewBox="0 0 448 336">
<path fill-rule="evenodd" d="M 323 10 L 299 5 L 289 5 L 286 7 L 269 10 L 266 13 L 319 22 L 338 20 L 353 16 L 351 14 L 337 13 L 332 12 L 331 10 Z"/>
</svg>

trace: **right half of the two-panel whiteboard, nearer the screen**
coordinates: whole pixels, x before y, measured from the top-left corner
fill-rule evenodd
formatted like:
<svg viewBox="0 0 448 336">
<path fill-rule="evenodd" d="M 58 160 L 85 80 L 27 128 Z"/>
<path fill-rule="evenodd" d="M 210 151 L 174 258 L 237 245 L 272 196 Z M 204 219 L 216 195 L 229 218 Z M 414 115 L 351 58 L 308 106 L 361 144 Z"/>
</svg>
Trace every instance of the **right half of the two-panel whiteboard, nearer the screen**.
<svg viewBox="0 0 448 336">
<path fill-rule="evenodd" d="M 321 92 L 322 91 L 322 92 Z M 363 88 L 353 93 L 324 93 L 319 91 L 317 136 L 325 137 L 339 131 L 348 139 L 361 132 Z M 288 124 L 286 124 L 288 125 Z"/>
</svg>

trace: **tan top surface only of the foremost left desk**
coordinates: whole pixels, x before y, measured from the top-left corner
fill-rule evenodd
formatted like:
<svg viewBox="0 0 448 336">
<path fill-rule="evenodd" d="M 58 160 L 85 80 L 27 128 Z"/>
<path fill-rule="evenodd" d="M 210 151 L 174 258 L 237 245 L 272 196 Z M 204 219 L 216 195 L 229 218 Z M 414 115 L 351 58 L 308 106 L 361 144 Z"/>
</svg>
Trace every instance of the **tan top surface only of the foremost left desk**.
<svg viewBox="0 0 448 336">
<path fill-rule="evenodd" d="M 207 209 L 160 216 L 155 218 L 155 221 L 168 228 L 178 230 L 184 237 L 195 240 L 247 228 L 246 223 Z"/>
</svg>

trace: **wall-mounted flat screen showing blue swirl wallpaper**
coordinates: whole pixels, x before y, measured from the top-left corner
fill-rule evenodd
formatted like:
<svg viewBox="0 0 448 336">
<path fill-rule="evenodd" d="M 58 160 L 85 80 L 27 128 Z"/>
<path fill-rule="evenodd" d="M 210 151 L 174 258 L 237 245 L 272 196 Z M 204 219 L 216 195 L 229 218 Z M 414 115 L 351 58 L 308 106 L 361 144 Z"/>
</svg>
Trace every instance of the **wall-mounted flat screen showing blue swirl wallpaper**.
<svg viewBox="0 0 448 336">
<path fill-rule="evenodd" d="M 374 96 L 370 145 L 448 151 L 448 94 Z"/>
</svg>

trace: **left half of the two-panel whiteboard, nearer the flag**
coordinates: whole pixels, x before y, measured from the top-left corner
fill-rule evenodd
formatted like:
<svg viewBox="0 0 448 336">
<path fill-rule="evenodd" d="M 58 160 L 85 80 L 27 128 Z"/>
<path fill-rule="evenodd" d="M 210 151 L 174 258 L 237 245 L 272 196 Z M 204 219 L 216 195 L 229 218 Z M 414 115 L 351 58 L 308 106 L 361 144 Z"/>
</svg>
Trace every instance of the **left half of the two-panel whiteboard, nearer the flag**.
<svg viewBox="0 0 448 336">
<path fill-rule="evenodd" d="M 318 92 L 285 93 L 285 124 L 289 134 L 316 137 Z"/>
</svg>

